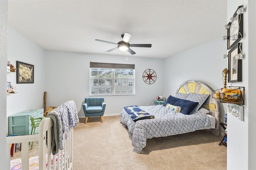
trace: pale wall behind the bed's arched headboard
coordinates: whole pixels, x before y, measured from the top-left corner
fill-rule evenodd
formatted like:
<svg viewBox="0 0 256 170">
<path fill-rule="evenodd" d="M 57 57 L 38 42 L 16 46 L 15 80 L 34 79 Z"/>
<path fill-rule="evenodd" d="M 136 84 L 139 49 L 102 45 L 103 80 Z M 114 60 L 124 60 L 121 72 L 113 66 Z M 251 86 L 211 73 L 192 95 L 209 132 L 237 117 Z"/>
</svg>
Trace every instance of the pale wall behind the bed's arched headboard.
<svg viewBox="0 0 256 170">
<path fill-rule="evenodd" d="M 222 70 L 226 61 L 222 55 L 226 52 L 226 42 L 221 39 L 211 41 L 178 53 L 164 61 L 164 90 L 175 95 L 178 86 L 186 80 L 198 80 L 213 90 L 223 88 Z M 219 102 L 218 102 L 219 103 Z M 224 107 L 219 103 L 220 119 L 224 121 Z M 221 129 L 224 134 L 224 130 Z"/>
</svg>

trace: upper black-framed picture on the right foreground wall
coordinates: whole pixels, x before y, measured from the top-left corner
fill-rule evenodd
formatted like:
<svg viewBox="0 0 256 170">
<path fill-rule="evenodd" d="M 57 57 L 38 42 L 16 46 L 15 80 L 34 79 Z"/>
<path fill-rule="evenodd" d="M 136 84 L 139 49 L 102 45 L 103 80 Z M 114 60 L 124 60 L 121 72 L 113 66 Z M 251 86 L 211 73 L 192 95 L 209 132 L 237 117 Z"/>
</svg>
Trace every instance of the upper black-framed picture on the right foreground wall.
<svg viewBox="0 0 256 170">
<path fill-rule="evenodd" d="M 238 6 L 237 10 L 243 6 Z M 236 10 L 236 12 L 237 12 Z M 234 13 L 232 18 L 234 20 L 232 22 L 229 22 L 228 25 L 230 26 L 228 28 L 228 39 L 227 39 L 227 49 L 232 49 L 236 43 L 238 43 L 243 36 L 243 14 L 238 15 L 237 13 Z M 232 35 L 237 35 L 238 38 L 236 40 L 232 40 L 231 36 Z"/>
</svg>

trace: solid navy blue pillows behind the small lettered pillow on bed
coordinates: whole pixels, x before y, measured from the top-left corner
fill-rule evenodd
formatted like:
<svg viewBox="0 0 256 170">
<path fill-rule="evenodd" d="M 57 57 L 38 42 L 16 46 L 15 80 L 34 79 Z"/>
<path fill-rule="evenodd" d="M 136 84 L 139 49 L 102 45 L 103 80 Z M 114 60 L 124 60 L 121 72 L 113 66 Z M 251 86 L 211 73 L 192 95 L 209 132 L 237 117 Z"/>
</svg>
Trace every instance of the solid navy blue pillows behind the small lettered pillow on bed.
<svg viewBox="0 0 256 170">
<path fill-rule="evenodd" d="M 190 100 L 175 98 L 171 95 L 168 97 L 168 99 L 166 100 L 163 106 L 166 106 L 166 104 L 180 106 L 181 107 L 180 112 L 183 113 L 184 115 L 190 115 L 191 113 L 194 112 L 194 110 L 198 106 L 198 102 L 192 102 Z"/>
</svg>

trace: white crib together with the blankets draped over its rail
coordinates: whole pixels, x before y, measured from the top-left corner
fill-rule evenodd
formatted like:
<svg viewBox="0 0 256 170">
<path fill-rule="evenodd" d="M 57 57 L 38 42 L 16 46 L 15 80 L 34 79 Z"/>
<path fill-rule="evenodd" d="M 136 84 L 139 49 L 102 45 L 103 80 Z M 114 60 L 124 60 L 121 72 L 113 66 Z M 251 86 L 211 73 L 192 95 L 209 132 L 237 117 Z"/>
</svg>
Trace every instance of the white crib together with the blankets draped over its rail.
<svg viewBox="0 0 256 170">
<path fill-rule="evenodd" d="M 56 119 L 53 119 L 52 115 L 56 115 Z M 76 105 L 70 100 L 49 112 L 46 118 L 42 119 L 38 134 L 6 137 L 8 150 L 10 144 L 21 143 L 21 158 L 10 161 L 10 156 L 8 156 L 6 169 L 72 170 L 73 128 L 78 122 Z M 29 158 L 29 143 L 32 141 L 38 141 L 38 156 Z"/>
</svg>

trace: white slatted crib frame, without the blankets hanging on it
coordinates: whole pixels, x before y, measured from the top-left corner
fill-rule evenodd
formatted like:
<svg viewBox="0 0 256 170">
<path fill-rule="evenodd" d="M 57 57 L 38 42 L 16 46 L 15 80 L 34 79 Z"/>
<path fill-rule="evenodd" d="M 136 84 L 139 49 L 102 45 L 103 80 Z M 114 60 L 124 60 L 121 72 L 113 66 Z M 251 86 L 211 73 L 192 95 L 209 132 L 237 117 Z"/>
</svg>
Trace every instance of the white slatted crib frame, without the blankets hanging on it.
<svg viewBox="0 0 256 170">
<path fill-rule="evenodd" d="M 57 156 L 51 155 L 51 141 L 52 141 L 52 120 L 49 117 L 42 119 L 39 125 L 39 133 L 36 135 L 23 135 L 23 136 L 12 136 L 6 137 L 6 150 L 10 150 L 10 144 L 21 143 L 21 159 L 22 169 L 29 169 L 29 142 L 38 141 L 38 168 L 39 170 L 61 169 L 61 170 L 72 170 L 73 167 L 73 129 L 70 131 L 68 139 L 64 143 L 64 149 L 59 150 Z M 47 140 L 46 140 L 47 139 Z M 49 147 L 47 147 L 49 146 Z M 9 152 L 10 153 L 10 152 Z M 47 160 L 46 161 L 46 155 Z M 51 163 L 51 160 L 52 161 Z M 56 160 L 56 161 L 55 161 Z M 6 170 L 10 170 L 10 156 L 7 157 Z M 46 167 L 46 164 L 48 166 Z"/>
</svg>

